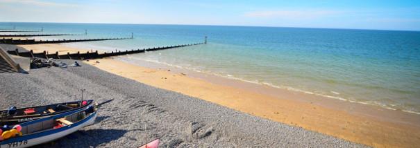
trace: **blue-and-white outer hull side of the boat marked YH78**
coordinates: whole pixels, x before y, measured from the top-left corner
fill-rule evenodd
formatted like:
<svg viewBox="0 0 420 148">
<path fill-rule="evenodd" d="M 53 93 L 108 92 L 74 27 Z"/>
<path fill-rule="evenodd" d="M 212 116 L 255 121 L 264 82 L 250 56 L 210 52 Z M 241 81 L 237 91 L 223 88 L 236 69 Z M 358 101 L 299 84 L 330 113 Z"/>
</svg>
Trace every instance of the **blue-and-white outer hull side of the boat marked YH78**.
<svg viewBox="0 0 420 148">
<path fill-rule="evenodd" d="M 71 124 L 66 127 L 53 129 L 51 131 L 43 131 L 41 133 L 35 133 L 31 136 L 22 136 L 22 137 L 14 138 L 14 140 L 12 141 L 0 142 L 0 148 L 31 147 L 34 145 L 40 145 L 44 142 L 50 142 L 58 138 L 67 136 L 70 133 L 74 133 L 75 131 L 78 131 L 78 129 L 82 129 L 83 127 L 94 124 L 95 119 L 96 119 L 96 111 L 92 113 L 89 117 L 81 120 L 80 122 Z"/>
</svg>

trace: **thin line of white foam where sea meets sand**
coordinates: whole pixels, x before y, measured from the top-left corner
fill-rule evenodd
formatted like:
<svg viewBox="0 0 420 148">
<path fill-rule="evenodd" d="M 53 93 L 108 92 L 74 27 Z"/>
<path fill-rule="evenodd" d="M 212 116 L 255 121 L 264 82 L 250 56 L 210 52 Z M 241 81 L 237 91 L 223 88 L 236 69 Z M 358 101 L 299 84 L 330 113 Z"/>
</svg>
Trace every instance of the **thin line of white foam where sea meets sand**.
<svg viewBox="0 0 420 148">
<path fill-rule="evenodd" d="M 376 106 L 376 107 L 383 107 L 384 109 L 389 109 L 389 110 L 393 110 L 393 111 L 398 110 L 398 109 L 395 109 L 395 108 L 392 108 L 392 107 L 387 106 L 387 104 L 383 104 L 383 103 L 380 103 L 380 102 L 373 102 L 373 103 L 371 103 L 371 102 L 362 102 L 362 101 L 356 101 L 356 100 L 348 100 L 346 98 L 341 98 L 341 97 L 337 97 L 337 96 L 333 96 L 333 95 L 326 95 L 326 94 L 321 94 L 321 93 L 314 93 L 312 91 L 304 91 L 304 90 L 301 90 L 301 89 L 293 88 L 291 86 L 278 86 L 278 85 L 275 85 L 275 84 L 271 84 L 269 82 L 259 82 L 258 80 L 244 80 L 242 78 L 235 77 L 234 75 L 230 75 L 230 74 L 221 75 L 219 73 L 212 73 L 212 72 L 208 72 L 208 71 L 201 71 L 201 70 L 198 70 L 196 68 L 189 68 L 189 67 L 178 66 L 178 65 L 174 65 L 174 64 L 169 64 L 167 62 L 160 62 L 160 61 L 157 61 L 157 60 L 141 59 L 141 58 L 137 58 L 137 57 L 133 57 L 133 56 L 129 56 L 129 55 L 126 56 L 126 57 L 128 59 L 141 60 L 141 61 L 145 61 L 145 62 L 153 62 L 153 63 L 156 63 L 156 64 L 163 64 L 165 66 L 171 66 L 171 67 L 186 69 L 188 71 L 194 71 L 194 72 L 198 72 L 198 73 L 205 73 L 205 74 L 215 75 L 215 76 L 224 77 L 224 78 L 227 78 L 227 79 L 230 79 L 230 80 L 238 80 L 238 81 L 248 82 L 248 83 L 252 83 L 252 84 L 270 86 L 270 87 L 273 87 L 273 88 L 276 88 L 276 89 L 285 89 L 287 91 L 295 91 L 295 92 L 300 92 L 300 93 L 305 93 L 305 94 L 310 94 L 310 95 L 317 95 L 317 96 L 321 96 L 321 97 L 324 97 L 324 98 L 331 98 L 331 99 L 342 100 L 342 101 L 346 101 L 346 102 L 366 104 L 366 105 L 372 105 L 372 106 Z M 331 91 L 331 93 L 334 93 L 336 95 L 339 95 L 339 93 L 338 92 L 335 92 L 335 91 Z M 420 113 L 419 112 L 416 112 L 416 111 L 409 111 L 409 110 L 404 110 L 404 109 L 401 109 L 401 111 L 404 111 L 404 112 L 407 112 L 407 113 L 414 113 L 414 114 L 420 115 Z"/>
</svg>

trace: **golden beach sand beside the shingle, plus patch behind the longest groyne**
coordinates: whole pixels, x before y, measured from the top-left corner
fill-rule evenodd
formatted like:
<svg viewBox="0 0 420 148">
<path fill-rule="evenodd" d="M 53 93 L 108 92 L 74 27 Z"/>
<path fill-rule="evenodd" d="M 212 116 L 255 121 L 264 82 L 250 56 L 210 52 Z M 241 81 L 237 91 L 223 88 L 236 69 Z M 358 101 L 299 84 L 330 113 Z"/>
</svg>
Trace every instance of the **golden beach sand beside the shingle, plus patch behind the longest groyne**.
<svg viewBox="0 0 420 148">
<path fill-rule="evenodd" d="M 21 47 L 51 52 L 80 50 L 61 44 Z M 94 61 L 99 61 L 99 64 Z M 419 115 L 414 113 L 385 110 L 269 86 L 255 86 L 223 77 L 205 79 L 208 76 L 203 74 L 183 75 L 180 74 L 181 70 L 175 68 L 167 71 L 165 68 L 150 68 L 115 59 L 95 59 L 85 63 L 137 82 L 364 145 L 414 147 L 420 142 L 420 133 L 412 133 L 420 129 Z"/>
</svg>

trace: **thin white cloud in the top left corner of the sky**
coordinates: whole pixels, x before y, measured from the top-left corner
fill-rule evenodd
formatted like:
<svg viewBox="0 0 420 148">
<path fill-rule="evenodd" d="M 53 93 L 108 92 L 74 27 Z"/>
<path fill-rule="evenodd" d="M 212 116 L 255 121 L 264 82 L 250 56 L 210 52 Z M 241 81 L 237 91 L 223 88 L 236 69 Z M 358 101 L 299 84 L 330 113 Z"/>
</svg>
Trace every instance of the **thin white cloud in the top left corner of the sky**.
<svg viewBox="0 0 420 148">
<path fill-rule="evenodd" d="M 25 5 L 35 5 L 35 6 L 44 6 L 44 7 L 78 7 L 78 5 L 70 3 L 55 3 L 48 1 L 38 1 L 38 0 L 0 0 L 0 3 L 20 3 Z"/>
</svg>

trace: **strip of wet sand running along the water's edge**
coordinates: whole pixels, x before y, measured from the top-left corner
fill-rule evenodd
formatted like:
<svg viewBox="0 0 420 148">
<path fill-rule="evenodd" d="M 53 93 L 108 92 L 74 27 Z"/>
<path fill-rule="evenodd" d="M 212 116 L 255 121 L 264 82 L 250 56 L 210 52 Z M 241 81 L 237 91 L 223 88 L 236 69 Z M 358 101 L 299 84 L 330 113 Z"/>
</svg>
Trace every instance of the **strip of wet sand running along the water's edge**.
<svg viewBox="0 0 420 148">
<path fill-rule="evenodd" d="M 126 55 L 121 55 L 119 57 L 124 57 L 124 56 Z M 115 57 L 113 59 L 124 62 L 126 64 L 140 66 L 142 68 L 151 68 L 155 71 L 169 70 L 169 72 L 173 74 L 185 73 L 187 77 L 203 80 L 211 84 L 230 86 L 230 87 L 234 87 L 234 88 L 241 89 L 244 91 L 252 91 L 254 93 L 268 95 L 272 98 L 317 104 L 321 107 L 326 107 L 328 109 L 343 110 L 343 111 L 347 111 L 348 113 L 365 115 L 365 116 L 369 116 L 373 118 L 378 118 L 379 120 L 387 120 L 389 122 L 399 122 L 400 120 L 405 120 L 405 121 L 410 120 L 410 124 L 413 124 L 415 126 L 419 126 L 420 124 L 420 115 L 419 113 L 416 113 L 416 112 L 411 113 L 409 111 L 403 111 L 403 110 L 398 110 L 398 109 L 388 109 L 385 107 L 378 106 L 376 104 L 367 104 L 367 103 L 360 103 L 360 102 L 355 102 L 355 101 L 350 101 L 350 100 L 339 100 L 335 98 L 327 98 L 323 95 L 314 95 L 312 93 L 292 91 L 292 90 L 276 88 L 276 87 L 264 85 L 264 84 L 255 84 L 251 82 L 245 82 L 242 80 L 230 79 L 228 77 L 221 77 L 218 75 L 212 75 L 208 73 L 190 71 L 184 68 L 176 68 L 174 66 L 162 65 L 155 62 L 142 62 L 142 63 L 133 64 L 132 62 L 128 62 L 124 60 L 126 58 L 119 58 L 119 57 Z M 291 97 L 290 95 L 288 97 L 280 97 L 280 95 L 285 95 L 285 94 L 294 94 L 298 97 L 293 97 L 293 96 Z M 381 113 L 382 111 L 384 111 L 385 113 Z M 389 115 L 389 114 L 392 114 L 392 115 Z M 404 118 L 401 118 L 401 116 Z M 417 117 L 417 120 L 412 120 L 414 117 Z"/>
</svg>

